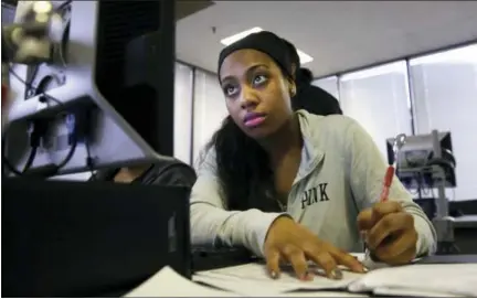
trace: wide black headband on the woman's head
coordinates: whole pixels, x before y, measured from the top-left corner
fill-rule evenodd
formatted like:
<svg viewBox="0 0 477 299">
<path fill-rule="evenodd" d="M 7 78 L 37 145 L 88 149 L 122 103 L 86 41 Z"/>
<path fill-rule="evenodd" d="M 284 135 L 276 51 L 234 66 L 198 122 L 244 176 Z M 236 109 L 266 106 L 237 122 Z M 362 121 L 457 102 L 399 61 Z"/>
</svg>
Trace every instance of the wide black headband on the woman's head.
<svg viewBox="0 0 477 299">
<path fill-rule="evenodd" d="M 280 38 L 268 31 L 252 33 L 224 47 L 219 55 L 219 77 L 223 61 L 233 52 L 244 49 L 252 49 L 267 54 L 288 77 L 293 77 L 292 62 L 287 45 Z"/>
</svg>

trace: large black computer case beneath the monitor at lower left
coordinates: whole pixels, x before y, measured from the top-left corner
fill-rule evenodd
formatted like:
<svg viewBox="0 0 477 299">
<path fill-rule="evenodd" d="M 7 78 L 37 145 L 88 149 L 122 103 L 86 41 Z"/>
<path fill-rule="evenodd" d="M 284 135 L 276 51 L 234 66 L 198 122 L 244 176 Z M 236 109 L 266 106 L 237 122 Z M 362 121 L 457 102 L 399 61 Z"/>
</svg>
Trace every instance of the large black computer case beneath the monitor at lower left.
<svg viewBox="0 0 477 299">
<path fill-rule="evenodd" d="M 169 265 L 191 276 L 190 190 L 2 180 L 2 296 L 123 296 Z"/>
</svg>

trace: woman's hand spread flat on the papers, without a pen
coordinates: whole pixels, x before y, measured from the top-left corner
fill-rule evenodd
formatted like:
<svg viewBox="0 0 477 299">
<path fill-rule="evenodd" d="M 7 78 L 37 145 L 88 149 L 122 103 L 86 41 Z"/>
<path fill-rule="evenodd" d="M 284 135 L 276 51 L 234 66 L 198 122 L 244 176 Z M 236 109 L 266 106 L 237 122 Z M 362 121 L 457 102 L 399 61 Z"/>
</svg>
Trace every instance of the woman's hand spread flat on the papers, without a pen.
<svg viewBox="0 0 477 299">
<path fill-rule="evenodd" d="M 353 256 L 331 244 L 319 239 L 305 226 L 288 216 L 278 217 L 269 227 L 265 239 L 267 269 L 273 278 L 278 278 L 280 261 L 289 263 L 301 280 L 312 279 L 308 260 L 320 266 L 331 279 L 341 279 L 338 265 L 356 273 L 364 273 L 364 266 Z"/>
</svg>

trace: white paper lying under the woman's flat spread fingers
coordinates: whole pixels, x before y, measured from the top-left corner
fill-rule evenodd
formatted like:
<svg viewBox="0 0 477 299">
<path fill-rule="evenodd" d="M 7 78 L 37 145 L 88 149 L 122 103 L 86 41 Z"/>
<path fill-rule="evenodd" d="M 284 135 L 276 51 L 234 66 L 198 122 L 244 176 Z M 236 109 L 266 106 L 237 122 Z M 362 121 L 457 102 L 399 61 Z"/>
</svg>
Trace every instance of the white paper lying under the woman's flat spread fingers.
<svg viewBox="0 0 477 299">
<path fill-rule="evenodd" d="M 317 267 L 310 267 L 311 271 L 319 271 Z M 362 274 L 343 270 L 343 279 L 332 280 L 322 276 L 315 276 L 312 281 L 300 281 L 296 278 L 290 267 L 284 268 L 278 279 L 272 279 L 262 264 L 246 264 L 226 267 L 209 271 L 198 273 L 193 280 L 209 284 L 221 289 L 226 289 L 242 296 L 271 296 L 296 290 L 347 289 Z M 246 287 L 244 287 L 246 286 Z"/>
</svg>

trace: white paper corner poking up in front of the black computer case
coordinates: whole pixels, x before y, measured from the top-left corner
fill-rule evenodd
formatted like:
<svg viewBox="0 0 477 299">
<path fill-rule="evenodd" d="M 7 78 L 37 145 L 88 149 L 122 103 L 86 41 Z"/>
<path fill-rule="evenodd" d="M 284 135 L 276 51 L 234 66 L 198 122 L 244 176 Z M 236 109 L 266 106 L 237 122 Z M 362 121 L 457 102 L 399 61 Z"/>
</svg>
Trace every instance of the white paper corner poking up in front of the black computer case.
<svg viewBox="0 0 477 299">
<path fill-rule="evenodd" d="M 236 293 L 215 290 L 190 281 L 165 267 L 125 297 L 236 297 Z"/>
</svg>

